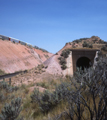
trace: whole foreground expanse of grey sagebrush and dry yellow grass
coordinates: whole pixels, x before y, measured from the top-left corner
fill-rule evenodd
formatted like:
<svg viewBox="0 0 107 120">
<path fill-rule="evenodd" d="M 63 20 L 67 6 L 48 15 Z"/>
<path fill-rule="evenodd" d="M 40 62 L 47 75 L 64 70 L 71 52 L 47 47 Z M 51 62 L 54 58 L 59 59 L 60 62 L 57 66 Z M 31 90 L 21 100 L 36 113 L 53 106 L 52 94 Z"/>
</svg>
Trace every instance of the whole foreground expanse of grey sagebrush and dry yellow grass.
<svg viewBox="0 0 107 120">
<path fill-rule="evenodd" d="M 59 81 L 59 82 L 58 82 Z M 95 69 L 78 69 L 74 77 L 19 87 L 0 82 L 1 120 L 106 120 L 107 58 L 100 58 Z M 51 86 L 51 87 L 48 87 Z M 12 100 L 11 100 L 12 99 Z M 7 103 L 7 104 L 5 104 Z"/>
</svg>

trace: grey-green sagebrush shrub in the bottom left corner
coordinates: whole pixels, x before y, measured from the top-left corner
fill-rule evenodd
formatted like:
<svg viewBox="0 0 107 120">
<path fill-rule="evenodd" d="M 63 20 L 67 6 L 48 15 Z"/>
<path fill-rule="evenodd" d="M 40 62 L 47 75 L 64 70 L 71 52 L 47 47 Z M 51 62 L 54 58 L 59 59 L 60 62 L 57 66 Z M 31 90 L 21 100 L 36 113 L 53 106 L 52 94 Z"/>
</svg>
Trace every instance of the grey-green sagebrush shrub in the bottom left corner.
<svg viewBox="0 0 107 120">
<path fill-rule="evenodd" d="M 16 98 L 10 104 L 6 103 L 1 110 L 1 120 L 15 120 L 21 112 L 21 98 Z"/>
</svg>

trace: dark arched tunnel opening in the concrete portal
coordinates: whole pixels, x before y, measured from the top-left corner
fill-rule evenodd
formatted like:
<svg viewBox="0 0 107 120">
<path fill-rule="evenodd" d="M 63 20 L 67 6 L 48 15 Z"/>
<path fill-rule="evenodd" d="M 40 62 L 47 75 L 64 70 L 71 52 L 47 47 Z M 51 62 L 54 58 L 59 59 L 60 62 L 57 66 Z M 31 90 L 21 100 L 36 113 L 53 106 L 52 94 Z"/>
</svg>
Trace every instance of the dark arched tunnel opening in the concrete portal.
<svg viewBox="0 0 107 120">
<path fill-rule="evenodd" d="M 77 60 L 76 66 L 84 70 L 84 68 L 89 68 L 91 66 L 91 61 L 87 57 L 80 57 Z"/>
</svg>

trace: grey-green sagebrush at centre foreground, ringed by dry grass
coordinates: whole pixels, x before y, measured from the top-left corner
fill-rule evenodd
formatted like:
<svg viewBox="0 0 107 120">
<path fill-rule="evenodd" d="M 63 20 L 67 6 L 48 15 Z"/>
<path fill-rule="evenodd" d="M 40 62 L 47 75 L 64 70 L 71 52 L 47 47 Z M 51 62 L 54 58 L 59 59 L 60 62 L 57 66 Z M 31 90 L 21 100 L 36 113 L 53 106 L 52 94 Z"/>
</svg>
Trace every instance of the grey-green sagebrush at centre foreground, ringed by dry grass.
<svg viewBox="0 0 107 120">
<path fill-rule="evenodd" d="M 57 88 L 53 93 L 47 90 L 44 93 L 40 93 L 39 90 L 35 89 L 31 95 L 31 102 L 39 104 L 40 110 L 47 113 L 62 100 L 62 93 L 60 93 L 60 91 L 58 92 L 58 90 Z"/>
</svg>

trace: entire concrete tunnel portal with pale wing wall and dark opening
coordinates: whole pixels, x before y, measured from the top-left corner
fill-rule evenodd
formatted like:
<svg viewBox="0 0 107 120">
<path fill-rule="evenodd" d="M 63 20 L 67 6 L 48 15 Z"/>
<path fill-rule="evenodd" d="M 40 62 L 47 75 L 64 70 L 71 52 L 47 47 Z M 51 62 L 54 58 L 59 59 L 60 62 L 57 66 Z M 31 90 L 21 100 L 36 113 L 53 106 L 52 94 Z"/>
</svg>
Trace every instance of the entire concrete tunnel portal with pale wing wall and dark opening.
<svg viewBox="0 0 107 120">
<path fill-rule="evenodd" d="M 73 75 L 77 67 L 84 69 L 93 66 L 98 51 L 98 49 L 72 49 L 67 58 L 67 69 L 64 70 L 64 75 Z"/>
</svg>

